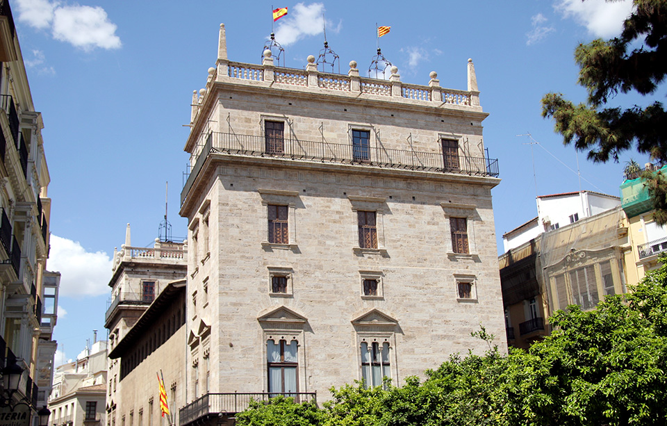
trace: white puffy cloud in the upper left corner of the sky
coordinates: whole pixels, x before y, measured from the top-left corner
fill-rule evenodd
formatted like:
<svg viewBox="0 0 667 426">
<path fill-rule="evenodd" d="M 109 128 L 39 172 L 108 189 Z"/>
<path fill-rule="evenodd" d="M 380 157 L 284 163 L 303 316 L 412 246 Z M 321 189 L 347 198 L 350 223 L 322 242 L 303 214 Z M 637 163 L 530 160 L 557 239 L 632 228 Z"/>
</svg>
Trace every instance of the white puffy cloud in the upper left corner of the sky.
<svg viewBox="0 0 667 426">
<path fill-rule="evenodd" d="M 116 24 L 110 22 L 99 6 L 61 6 L 59 1 L 17 0 L 19 21 L 38 29 L 51 28 L 56 40 L 68 42 L 84 51 L 96 47 L 118 49 L 122 43 Z"/>
</svg>

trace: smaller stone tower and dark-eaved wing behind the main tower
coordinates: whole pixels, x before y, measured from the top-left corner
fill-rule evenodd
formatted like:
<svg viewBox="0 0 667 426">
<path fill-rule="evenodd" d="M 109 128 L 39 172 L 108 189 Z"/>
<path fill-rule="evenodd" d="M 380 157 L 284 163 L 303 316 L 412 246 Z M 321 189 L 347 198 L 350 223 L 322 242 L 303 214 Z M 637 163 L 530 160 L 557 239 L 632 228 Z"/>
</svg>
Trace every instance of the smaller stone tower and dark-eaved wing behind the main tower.
<svg viewBox="0 0 667 426">
<path fill-rule="evenodd" d="M 188 245 L 156 238 L 152 247 L 134 247 L 130 234 L 128 224 L 109 281 L 105 409 L 110 424 L 151 425 L 160 416 L 158 398 L 148 404 L 156 370 L 163 371 L 170 404 L 185 400 Z"/>
</svg>

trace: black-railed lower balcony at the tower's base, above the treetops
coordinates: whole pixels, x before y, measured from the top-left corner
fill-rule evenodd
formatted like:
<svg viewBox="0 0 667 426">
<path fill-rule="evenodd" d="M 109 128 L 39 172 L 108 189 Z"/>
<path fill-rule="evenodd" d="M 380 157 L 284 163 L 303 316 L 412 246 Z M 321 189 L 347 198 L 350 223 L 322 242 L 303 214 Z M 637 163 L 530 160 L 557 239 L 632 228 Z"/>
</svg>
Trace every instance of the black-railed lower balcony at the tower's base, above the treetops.
<svg viewBox="0 0 667 426">
<path fill-rule="evenodd" d="M 296 402 L 317 403 L 316 393 L 207 393 L 179 410 L 179 424 L 187 425 L 209 415 L 240 413 L 249 407 L 251 400 L 268 403 L 278 395 L 294 398 Z"/>
</svg>

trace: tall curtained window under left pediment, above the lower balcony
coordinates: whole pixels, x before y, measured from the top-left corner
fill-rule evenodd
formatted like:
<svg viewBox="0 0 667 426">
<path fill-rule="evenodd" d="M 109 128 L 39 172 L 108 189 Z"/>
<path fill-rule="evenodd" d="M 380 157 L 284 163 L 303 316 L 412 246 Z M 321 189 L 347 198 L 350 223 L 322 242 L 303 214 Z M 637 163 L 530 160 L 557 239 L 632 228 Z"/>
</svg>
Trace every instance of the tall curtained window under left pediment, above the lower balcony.
<svg viewBox="0 0 667 426">
<path fill-rule="evenodd" d="M 269 373 L 269 392 L 296 393 L 297 384 L 297 341 L 273 340 L 266 342 L 266 361 Z"/>
</svg>

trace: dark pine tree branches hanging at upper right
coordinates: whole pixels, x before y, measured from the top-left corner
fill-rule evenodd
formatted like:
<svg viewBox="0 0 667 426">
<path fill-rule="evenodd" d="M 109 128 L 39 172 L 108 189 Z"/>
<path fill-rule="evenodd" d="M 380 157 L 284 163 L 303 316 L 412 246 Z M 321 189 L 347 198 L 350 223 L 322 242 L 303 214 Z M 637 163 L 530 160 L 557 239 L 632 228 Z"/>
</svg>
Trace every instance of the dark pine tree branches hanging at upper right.
<svg viewBox="0 0 667 426">
<path fill-rule="evenodd" d="M 619 37 L 593 40 L 575 49 L 578 83 L 588 92 L 586 103 L 575 105 L 559 93 L 542 99 L 542 115 L 554 120 L 563 142 L 588 151 L 588 158 L 596 162 L 618 161 L 620 152 L 633 146 L 667 162 L 667 113 L 661 102 L 645 107 L 607 106 L 619 92 L 657 95 L 667 74 L 667 1 L 634 0 L 633 4 Z M 667 183 L 655 179 L 653 183 L 657 222 L 666 224 Z"/>
</svg>

